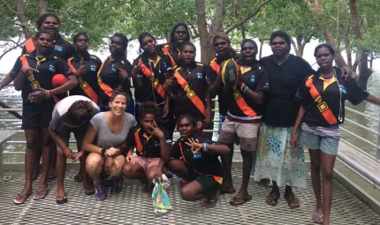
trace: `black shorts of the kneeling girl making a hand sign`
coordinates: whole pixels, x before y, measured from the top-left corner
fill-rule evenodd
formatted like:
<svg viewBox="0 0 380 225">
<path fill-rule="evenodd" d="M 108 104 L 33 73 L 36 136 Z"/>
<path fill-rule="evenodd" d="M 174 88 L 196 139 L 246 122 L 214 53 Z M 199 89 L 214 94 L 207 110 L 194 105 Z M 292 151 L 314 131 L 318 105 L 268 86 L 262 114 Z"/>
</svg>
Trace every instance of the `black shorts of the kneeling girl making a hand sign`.
<svg viewBox="0 0 380 225">
<path fill-rule="evenodd" d="M 201 189 L 205 194 L 221 190 L 222 184 L 217 183 L 213 176 L 199 175 L 190 165 L 188 165 L 187 163 L 185 164 L 187 171 L 189 171 L 187 175 L 188 178 L 190 179 L 190 181 L 196 181 L 199 184 L 201 184 Z"/>
</svg>

